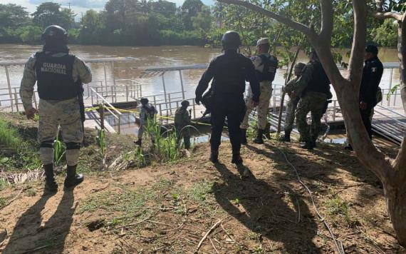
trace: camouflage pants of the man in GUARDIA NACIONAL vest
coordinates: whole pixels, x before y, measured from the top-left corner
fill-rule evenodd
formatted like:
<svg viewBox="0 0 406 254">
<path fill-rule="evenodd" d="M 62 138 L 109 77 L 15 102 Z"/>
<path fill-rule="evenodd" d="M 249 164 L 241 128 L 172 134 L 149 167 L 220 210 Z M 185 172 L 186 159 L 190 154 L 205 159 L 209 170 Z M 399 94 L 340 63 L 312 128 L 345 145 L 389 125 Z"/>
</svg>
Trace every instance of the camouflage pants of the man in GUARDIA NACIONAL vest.
<svg viewBox="0 0 406 254">
<path fill-rule="evenodd" d="M 83 125 L 80 118 L 78 98 L 63 101 L 39 101 L 38 142 L 40 158 L 44 165 L 53 163 L 53 141 L 61 126 L 66 144 L 66 163 L 76 166 L 79 148 L 83 142 Z"/>
</svg>

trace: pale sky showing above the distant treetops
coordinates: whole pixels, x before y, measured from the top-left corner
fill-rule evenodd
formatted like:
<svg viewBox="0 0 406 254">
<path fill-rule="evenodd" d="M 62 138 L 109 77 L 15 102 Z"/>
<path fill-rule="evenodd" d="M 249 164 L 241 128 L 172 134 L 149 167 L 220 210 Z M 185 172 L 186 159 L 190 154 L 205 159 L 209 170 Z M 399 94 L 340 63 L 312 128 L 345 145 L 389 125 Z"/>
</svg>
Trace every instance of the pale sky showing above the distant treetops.
<svg viewBox="0 0 406 254">
<path fill-rule="evenodd" d="M 101 11 L 108 0 L 0 0 L 0 4 L 17 4 L 26 8 L 30 14 L 36 11 L 36 6 L 39 4 L 53 1 L 54 3 L 61 4 L 63 8 L 68 8 L 68 3 L 71 2 L 71 9 L 80 16 L 81 13 L 85 14 L 88 9 L 95 9 Z M 184 0 L 168 0 L 180 6 Z M 212 5 L 213 0 L 202 0 L 204 4 Z"/>
</svg>

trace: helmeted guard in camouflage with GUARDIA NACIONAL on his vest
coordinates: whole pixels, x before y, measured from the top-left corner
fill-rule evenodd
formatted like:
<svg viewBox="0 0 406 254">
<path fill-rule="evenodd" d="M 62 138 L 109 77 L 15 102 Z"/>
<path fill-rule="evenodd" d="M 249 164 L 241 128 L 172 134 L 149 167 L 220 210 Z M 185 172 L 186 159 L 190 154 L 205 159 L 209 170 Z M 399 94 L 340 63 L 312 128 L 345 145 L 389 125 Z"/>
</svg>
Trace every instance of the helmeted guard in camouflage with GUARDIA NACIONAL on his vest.
<svg viewBox="0 0 406 254">
<path fill-rule="evenodd" d="M 60 26 L 48 26 L 41 39 L 43 51 L 31 56 L 24 68 L 20 96 L 26 116 L 33 119 L 39 112 L 38 141 L 40 158 L 46 175 L 46 188 L 57 191 L 53 174 L 53 142 L 58 126 L 61 126 L 63 142 L 66 143 L 66 188 L 83 181 L 76 174 L 79 148 L 83 142 L 83 125 L 80 118 L 78 97 L 82 96 L 81 82 L 92 81 L 90 69 L 76 56 L 69 54 L 68 34 Z M 37 82 L 39 108 L 33 108 L 33 86 Z M 80 84 L 79 84 L 80 83 Z"/>
</svg>

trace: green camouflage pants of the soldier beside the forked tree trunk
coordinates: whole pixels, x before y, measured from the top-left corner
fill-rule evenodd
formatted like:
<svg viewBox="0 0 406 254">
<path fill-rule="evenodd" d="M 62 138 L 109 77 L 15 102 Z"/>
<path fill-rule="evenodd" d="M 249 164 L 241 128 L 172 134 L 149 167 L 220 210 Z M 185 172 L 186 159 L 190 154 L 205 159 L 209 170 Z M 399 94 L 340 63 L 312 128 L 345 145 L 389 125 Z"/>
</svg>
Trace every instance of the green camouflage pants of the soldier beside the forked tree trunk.
<svg viewBox="0 0 406 254">
<path fill-rule="evenodd" d="M 321 117 L 327 101 L 324 93 L 309 92 L 303 96 L 296 108 L 296 126 L 301 135 L 301 141 L 316 141 L 320 132 Z M 311 128 L 309 128 L 306 116 L 311 112 Z"/>
</svg>

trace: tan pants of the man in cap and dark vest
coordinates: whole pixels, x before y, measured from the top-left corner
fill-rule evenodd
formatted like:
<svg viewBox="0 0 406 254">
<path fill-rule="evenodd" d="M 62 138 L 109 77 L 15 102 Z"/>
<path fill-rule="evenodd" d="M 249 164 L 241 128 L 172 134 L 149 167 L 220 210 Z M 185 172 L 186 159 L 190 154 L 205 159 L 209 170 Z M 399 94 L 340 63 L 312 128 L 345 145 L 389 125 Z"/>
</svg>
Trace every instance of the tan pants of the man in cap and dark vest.
<svg viewBox="0 0 406 254">
<path fill-rule="evenodd" d="M 266 123 L 268 122 L 268 109 L 269 109 L 269 100 L 272 96 L 272 83 L 269 81 L 263 81 L 260 83 L 261 96 L 259 96 L 259 105 L 256 106 L 256 111 L 258 113 L 258 128 L 264 130 L 266 128 Z M 241 123 L 240 128 L 246 129 L 249 127 L 249 115 L 254 109 L 252 106 L 252 92 L 249 88 L 248 96 L 246 96 L 246 113 L 244 120 Z"/>
</svg>

